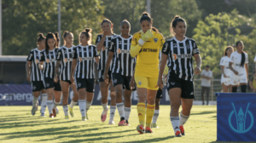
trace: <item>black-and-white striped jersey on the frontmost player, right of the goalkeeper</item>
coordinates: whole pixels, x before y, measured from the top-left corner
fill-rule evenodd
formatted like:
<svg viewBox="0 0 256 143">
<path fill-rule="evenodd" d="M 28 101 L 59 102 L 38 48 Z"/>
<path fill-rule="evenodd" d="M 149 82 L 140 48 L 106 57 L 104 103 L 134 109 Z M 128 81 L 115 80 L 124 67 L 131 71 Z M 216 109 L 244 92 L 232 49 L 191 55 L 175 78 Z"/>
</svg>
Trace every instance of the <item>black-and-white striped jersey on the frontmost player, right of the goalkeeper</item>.
<svg viewBox="0 0 256 143">
<path fill-rule="evenodd" d="M 179 78 L 193 81 L 193 55 L 199 54 L 195 40 L 185 37 L 178 41 L 175 37 L 167 40 L 163 45 L 162 54 L 167 54 L 169 73 L 174 72 Z"/>
</svg>

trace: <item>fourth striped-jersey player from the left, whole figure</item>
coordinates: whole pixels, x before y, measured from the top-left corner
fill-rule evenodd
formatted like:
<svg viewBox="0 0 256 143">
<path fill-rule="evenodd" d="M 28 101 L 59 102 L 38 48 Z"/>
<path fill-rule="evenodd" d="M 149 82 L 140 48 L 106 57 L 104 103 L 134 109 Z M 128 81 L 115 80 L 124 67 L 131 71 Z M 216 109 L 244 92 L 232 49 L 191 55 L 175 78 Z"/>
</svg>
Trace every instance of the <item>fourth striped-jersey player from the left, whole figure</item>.
<svg viewBox="0 0 256 143">
<path fill-rule="evenodd" d="M 82 114 L 82 121 L 86 121 L 86 112 L 88 112 L 94 96 L 94 60 L 98 64 L 99 55 L 96 46 L 90 44 L 90 28 L 86 28 L 79 34 L 79 40 L 79 46 L 73 48 L 70 82 L 76 83 L 79 90 L 79 109 Z"/>
</svg>

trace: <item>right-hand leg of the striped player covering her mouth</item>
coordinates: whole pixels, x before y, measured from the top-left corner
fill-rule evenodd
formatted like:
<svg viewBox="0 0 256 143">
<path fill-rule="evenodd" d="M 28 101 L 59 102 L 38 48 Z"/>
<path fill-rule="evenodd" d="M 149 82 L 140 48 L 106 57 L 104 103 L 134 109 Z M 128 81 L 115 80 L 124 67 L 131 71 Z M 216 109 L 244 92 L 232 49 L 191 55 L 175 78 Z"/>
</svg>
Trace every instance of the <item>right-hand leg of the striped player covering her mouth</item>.
<svg viewBox="0 0 256 143">
<path fill-rule="evenodd" d="M 109 116 L 109 122 L 108 124 L 114 124 L 113 117 L 115 115 L 116 111 L 116 96 L 115 96 L 115 90 L 113 88 L 113 82 L 111 80 L 110 83 L 110 116 Z"/>
</svg>

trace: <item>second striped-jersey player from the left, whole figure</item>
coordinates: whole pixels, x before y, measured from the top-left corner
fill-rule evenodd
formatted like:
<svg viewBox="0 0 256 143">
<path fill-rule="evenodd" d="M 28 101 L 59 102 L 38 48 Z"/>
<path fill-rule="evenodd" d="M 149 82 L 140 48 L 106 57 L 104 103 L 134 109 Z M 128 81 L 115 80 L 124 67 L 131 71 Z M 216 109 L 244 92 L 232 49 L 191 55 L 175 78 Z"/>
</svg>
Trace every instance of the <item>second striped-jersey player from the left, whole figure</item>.
<svg viewBox="0 0 256 143">
<path fill-rule="evenodd" d="M 58 54 L 56 48 L 57 38 L 54 33 L 49 32 L 45 40 L 45 49 L 41 52 L 41 59 L 39 69 L 44 69 L 44 87 L 48 95 L 47 107 L 49 110 L 49 117 L 56 117 L 55 108 L 61 101 L 61 85 L 60 81 L 54 82 L 55 65 Z M 45 65 L 45 66 L 44 66 Z M 53 103 L 53 96 L 55 95 L 55 103 Z M 54 105 L 53 105 L 54 104 Z"/>
</svg>

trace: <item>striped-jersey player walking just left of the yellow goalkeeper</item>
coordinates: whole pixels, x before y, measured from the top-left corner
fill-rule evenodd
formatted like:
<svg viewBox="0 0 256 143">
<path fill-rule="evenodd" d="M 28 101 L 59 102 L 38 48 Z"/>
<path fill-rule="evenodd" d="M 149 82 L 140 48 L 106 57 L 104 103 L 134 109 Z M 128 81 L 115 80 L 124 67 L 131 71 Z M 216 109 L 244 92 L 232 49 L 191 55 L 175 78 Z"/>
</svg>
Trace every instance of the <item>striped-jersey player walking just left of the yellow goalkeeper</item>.
<svg viewBox="0 0 256 143">
<path fill-rule="evenodd" d="M 135 68 L 135 58 L 131 57 L 131 25 L 127 20 L 123 20 L 120 24 L 121 34 L 113 37 L 111 46 L 109 47 L 108 60 L 105 66 L 104 81 L 109 83 L 108 68 L 113 59 L 112 81 L 116 94 L 116 106 L 119 111 L 120 122 L 119 126 L 130 125 L 128 120 L 131 113 L 131 88 L 130 81 Z M 114 58 L 113 58 L 114 54 Z M 123 102 L 123 87 L 125 87 Z"/>
</svg>

